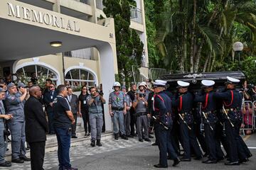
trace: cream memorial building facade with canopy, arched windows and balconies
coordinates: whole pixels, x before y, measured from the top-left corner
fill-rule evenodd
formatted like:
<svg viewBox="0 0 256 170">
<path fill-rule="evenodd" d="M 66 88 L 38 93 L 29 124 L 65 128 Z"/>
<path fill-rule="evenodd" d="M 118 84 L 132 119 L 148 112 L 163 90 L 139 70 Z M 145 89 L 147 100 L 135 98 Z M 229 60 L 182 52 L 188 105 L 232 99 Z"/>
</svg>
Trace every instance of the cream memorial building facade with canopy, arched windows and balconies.
<svg viewBox="0 0 256 170">
<path fill-rule="evenodd" d="M 142 63 L 148 66 L 144 1 L 136 3 L 130 9 L 130 28 L 144 43 Z M 75 88 L 103 84 L 107 98 L 117 74 L 117 55 L 114 21 L 100 19 L 105 17 L 102 8 L 102 0 L 1 0 L 1 77 L 36 74 Z M 53 42 L 61 46 L 50 46 Z M 106 128 L 112 130 L 110 118 Z"/>
</svg>

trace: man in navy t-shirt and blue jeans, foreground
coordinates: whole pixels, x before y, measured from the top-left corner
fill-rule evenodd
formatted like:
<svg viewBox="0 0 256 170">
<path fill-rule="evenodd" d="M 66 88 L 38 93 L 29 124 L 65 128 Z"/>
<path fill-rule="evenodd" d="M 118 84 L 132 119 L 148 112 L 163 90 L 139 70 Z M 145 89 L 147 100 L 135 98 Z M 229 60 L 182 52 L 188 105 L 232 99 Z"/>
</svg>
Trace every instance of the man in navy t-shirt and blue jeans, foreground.
<svg viewBox="0 0 256 170">
<path fill-rule="evenodd" d="M 53 101 L 53 128 L 58 140 L 58 161 L 59 169 L 77 170 L 70 164 L 70 137 L 71 125 L 75 123 L 75 118 L 71 112 L 66 96 L 68 91 L 65 85 L 61 84 L 57 88 L 58 96 Z"/>
</svg>

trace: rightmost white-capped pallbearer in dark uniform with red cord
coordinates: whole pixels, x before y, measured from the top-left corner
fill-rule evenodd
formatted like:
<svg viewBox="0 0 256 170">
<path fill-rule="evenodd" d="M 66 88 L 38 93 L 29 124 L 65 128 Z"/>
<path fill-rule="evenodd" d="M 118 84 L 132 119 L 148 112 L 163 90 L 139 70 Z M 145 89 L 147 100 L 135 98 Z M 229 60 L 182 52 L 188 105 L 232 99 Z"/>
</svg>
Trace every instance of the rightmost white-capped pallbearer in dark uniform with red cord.
<svg viewBox="0 0 256 170">
<path fill-rule="evenodd" d="M 215 94 L 215 98 L 223 100 L 223 114 L 225 115 L 225 135 L 228 142 L 229 162 L 225 165 L 239 165 L 240 162 L 247 162 L 247 157 L 239 140 L 239 130 L 242 117 L 240 108 L 242 106 L 242 96 L 235 90 L 235 84 L 239 79 L 227 77 L 225 91 Z M 239 155 L 239 158 L 238 158 Z M 240 159 L 240 160 L 239 160 Z"/>
</svg>

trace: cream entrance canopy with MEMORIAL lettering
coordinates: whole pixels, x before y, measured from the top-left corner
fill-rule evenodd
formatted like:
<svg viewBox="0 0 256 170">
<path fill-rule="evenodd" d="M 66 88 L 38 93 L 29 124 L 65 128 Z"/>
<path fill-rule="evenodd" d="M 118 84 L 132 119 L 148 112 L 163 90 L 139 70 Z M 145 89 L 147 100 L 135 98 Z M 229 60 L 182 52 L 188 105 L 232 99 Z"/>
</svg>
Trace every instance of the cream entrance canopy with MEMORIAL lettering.
<svg viewBox="0 0 256 170">
<path fill-rule="evenodd" d="M 0 62 L 114 44 L 113 34 L 112 20 L 101 26 L 20 1 L 0 1 Z"/>
</svg>

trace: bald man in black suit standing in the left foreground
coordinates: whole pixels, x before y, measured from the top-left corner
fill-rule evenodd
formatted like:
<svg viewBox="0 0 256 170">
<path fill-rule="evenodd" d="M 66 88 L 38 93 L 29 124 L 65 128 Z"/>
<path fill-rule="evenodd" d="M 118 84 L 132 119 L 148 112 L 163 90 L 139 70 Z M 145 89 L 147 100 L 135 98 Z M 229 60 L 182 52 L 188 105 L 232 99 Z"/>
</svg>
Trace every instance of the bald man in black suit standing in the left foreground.
<svg viewBox="0 0 256 170">
<path fill-rule="evenodd" d="M 43 106 L 39 101 L 42 96 L 40 87 L 32 86 L 29 89 L 29 94 L 30 97 L 24 106 L 24 113 L 26 141 L 31 147 L 31 169 L 43 170 L 48 123 Z"/>
</svg>

